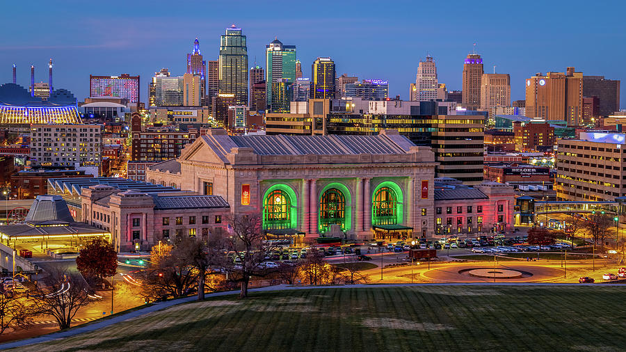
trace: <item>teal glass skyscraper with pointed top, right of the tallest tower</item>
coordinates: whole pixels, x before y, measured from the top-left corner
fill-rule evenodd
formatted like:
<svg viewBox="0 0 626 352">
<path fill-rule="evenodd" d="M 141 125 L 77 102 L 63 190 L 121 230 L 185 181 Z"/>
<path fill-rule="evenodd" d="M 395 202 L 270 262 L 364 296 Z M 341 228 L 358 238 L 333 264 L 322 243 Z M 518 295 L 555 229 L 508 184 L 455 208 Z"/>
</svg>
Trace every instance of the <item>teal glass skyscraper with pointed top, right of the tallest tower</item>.
<svg viewBox="0 0 626 352">
<path fill-rule="evenodd" d="M 271 111 L 274 111 L 271 105 L 273 102 L 273 88 L 270 87 L 278 81 L 285 83 L 283 79 L 288 79 L 291 83 L 296 81 L 296 46 L 283 45 L 278 38 L 274 39 L 265 47 L 265 62 L 265 81 L 268 87 L 266 94 L 267 106 Z M 284 97 L 280 97 L 279 101 L 282 102 L 283 100 Z M 283 108 L 281 107 L 280 109 Z"/>
</svg>

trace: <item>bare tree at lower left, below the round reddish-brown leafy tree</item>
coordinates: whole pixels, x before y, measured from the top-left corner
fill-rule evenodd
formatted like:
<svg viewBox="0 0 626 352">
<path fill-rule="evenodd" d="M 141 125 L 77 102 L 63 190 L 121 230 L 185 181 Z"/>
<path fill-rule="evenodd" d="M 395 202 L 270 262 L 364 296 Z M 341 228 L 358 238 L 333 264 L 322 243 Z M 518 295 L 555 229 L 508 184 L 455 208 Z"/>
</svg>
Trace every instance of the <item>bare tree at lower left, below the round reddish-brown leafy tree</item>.
<svg viewBox="0 0 626 352">
<path fill-rule="evenodd" d="M 89 305 L 93 299 L 88 294 L 88 285 L 79 275 L 65 271 L 54 271 L 47 278 L 35 285 L 28 311 L 33 315 L 54 317 L 61 330 L 70 328 L 72 319 Z"/>
</svg>

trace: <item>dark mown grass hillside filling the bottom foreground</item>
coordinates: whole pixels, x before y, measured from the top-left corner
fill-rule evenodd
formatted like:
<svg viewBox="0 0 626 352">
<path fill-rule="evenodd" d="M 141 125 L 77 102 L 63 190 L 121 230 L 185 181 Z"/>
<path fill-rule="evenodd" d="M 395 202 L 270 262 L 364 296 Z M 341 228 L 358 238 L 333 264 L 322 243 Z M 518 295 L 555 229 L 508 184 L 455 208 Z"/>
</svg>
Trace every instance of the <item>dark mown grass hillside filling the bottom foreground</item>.
<svg viewBox="0 0 626 352">
<path fill-rule="evenodd" d="M 19 351 L 618 351 L 626 319 L 611 307 L 626 299 L 621 286 L 269 291 L 177 305 Z"/>
</svg>

